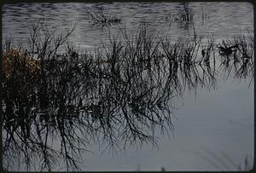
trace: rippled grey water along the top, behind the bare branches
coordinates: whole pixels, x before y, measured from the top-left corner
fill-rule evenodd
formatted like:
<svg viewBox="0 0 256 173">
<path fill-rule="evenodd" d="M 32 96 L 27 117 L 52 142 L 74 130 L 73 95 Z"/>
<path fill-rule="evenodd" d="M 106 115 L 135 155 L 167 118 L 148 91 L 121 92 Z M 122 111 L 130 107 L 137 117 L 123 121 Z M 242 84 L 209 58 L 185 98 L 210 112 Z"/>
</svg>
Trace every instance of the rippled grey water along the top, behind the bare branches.
<svg viewBox="0 0 256 173">
<path fill-rule="evenodd" d="M 242 4 L 242 5 L 241 5 Z M 120 26 L 104 28 L 91 26 L 87 11 L 102 7 L 109 14 L 121 18 Z M 168 14 L 176 14 L 180 3 L 17 3 L 3 6 L 4 36 L 27 37 L 32 21 L 45 19 L 50 29 L 65 30 L 79 20 L 71 40 L 81 48 L 99 46 L 100 40 L 108 39 L 109 30 L 117 27 L 134 28 L 146 22 L 158 32 L 173 36 L 193 33 L 191 22 L 166 21 Z M 247 29 L 253 30 L 253 5 L 251 3 L 190 3 L 194 14 L 195 31 L 216 37 L 236 35 Z"/>
</svg>

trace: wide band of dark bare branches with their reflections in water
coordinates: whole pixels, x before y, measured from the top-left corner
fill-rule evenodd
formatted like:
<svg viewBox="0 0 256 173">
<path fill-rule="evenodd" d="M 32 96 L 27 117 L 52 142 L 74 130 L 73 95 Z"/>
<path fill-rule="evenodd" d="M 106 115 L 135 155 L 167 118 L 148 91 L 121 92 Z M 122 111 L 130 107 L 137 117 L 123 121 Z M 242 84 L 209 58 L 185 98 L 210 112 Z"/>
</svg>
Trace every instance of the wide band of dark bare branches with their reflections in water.
<svg viewBox="0 0 256 173">
<path fill-rule="evenodd" d="M 12 40 L 3 45 L 6 169 L 16 169 L 22 158 L 26 170 L 35 162 L 35 170 L 56 164 L 79 170 L 90 141 L 107 142 L 113 153 L 157 147 L 155 130 L 169 136 L 173 101 L 185 90 L 216 89 L 219 73 L 253 81 L 251 33 L 216 43 L 195 29 L 187 38 L 159 37 L 141 25 L 110 34 L 102 49 L 80 52 L 67 42 L 74 30 L 55 35 L 41 22 L 32 26 L 26 48 Z"/>
</svg>

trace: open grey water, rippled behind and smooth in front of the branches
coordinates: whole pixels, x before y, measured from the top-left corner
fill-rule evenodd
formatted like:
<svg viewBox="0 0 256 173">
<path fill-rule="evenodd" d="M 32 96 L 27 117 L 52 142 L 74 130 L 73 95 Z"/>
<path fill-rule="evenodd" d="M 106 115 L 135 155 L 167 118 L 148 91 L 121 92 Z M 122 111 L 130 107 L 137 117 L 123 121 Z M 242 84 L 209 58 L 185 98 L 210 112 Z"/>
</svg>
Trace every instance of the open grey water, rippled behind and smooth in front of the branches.
<svg viewBox="0 0 256 173">
<path fill-rule="evenodd" d="M 15 3 L 3 6 L 3 39 L 25 40 L 29 24 L 45 20 L 51 30 L 65 31 L 78 20 L 70 41 L 79 49 L 94 49 L 107 42 L 108 33 L 119 28 L 136 28 L 146 22 L 159 34 L 187 37 L 195 32 L 214 35 L 220 43 L 247 31 L 253 32 L 251 3 L 189 3 L 193 20 L 166 20 L 177 14 L 181 3 Z M 119 25 L 92 26 L 86 11 L 103 8 L 121 19 Z M 219 56 L 217 56 L 219 59 Z M 102 153 L 91 144 L 93 153 L 84 153 L 82 170 L 236 170 L 233 164 L 220 163 L 224 154 L 236 164 L 246 155 L 253 161 L 253 82 L 251 78 L 225 79 L 219 73 L 216 89 L 186 90 L 177 99 L 173 135 L 158 141 L 159 148 L 144 145 L 126 148 L 117 155 Z M 218 158 L 218 159 L 216 159 Z M 225 161 L 224 161 L 225 162 Z M 226 161 L 227 162 L 227 161 Z M 215 163 L 215 164 L 214 164 Z M 229 162 L 228 162 L 229 163 Z M 227 168 L 228 167 L 228 168 Z"/>
</svg>

